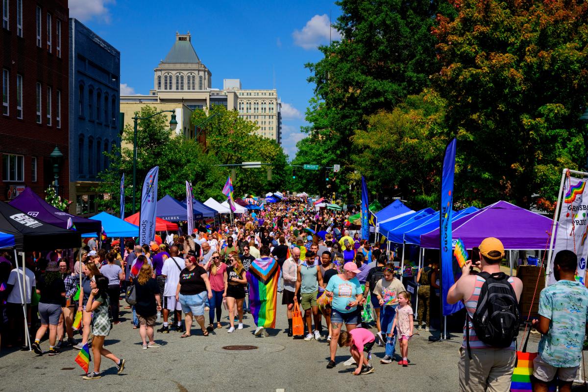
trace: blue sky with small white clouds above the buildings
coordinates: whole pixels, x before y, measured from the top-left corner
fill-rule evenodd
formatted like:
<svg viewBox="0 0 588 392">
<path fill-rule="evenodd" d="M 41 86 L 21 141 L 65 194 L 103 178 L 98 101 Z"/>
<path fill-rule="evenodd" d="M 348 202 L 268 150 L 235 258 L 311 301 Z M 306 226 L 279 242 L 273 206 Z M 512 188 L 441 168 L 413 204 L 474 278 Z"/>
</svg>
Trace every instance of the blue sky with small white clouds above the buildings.
<svg viewBox="0 0 588 392">
<path fill-rule="evenodd" d="M 212 87 L 240 79 L 244 89 L 271 89 L 282 100 L 282 146 L 290 159 L 304 137 L 300 126 L 312 97 L 304 64 L 322 58 L 340 9 L 332 1 L 190 2 L 69 0 L 69 15 L 121 52 L 122 93 L 146 94 L 153 69 L 165 58 L 175 33 L 190 32 L 199 58 L 212 72 Z M 333 39 L 338 33 L 331 30 Z"/>
</svg>

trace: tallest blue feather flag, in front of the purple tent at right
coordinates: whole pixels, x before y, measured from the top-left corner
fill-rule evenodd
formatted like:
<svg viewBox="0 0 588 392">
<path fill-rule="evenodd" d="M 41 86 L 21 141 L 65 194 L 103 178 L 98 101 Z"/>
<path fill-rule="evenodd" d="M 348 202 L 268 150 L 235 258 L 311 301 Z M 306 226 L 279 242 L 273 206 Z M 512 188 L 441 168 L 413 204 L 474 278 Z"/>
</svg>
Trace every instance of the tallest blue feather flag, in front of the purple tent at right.
<svg viewBox="0 0 588 392">
<path fill-rule="evenodd" d="M 440 263 L 441 263 L 441 307 L 443 316 L 451 315 L 457 310 L 462 309 L 463 303 L 458 302 L 453 305 L 447 303 L 447 292 L 455 283 L 453 276 L 453 236 L 451 227 L 452 207 L 453 207 L 453 175 L 455 174 L 455 151 L 456 139 L 447 144 L 445 148 L 445 157 L 443 157 L 443 167 L 441 176 L 441 205 L 439 214 L 440 225 Z"/>
</svg>

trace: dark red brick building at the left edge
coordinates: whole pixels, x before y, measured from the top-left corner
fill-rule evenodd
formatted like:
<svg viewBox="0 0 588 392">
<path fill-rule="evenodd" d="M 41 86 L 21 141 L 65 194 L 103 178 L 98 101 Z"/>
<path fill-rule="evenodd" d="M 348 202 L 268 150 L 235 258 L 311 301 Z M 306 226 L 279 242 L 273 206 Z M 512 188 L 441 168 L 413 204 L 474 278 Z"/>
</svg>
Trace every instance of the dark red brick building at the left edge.
<svg viewBox="0 0 588 392">
<path fill-rule="evenodd" d="M 69 190 L 68 1 L 3 0 L 0 68 L 0 200 L 25 185 L 39 195 L 54 180 L 49 155 L 57 146 L 59 195 Z"/>
</svg>

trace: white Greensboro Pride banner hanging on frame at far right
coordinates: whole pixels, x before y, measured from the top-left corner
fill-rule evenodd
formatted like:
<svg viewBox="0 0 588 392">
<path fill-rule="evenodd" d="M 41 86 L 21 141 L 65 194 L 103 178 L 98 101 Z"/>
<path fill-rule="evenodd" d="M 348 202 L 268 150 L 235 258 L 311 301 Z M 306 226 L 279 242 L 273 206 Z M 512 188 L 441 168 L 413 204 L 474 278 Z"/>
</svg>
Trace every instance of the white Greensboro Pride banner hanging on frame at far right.
<svg viewBox="0 0 588 392">
<path fill-rule="evenodd" d="M 576 280 L 584 283 L 586 260 L 588 259 L 588 187 L 586 179 L 566 175 L 563 183 L 562 210 L 557 222 L 557 235 L 553 249 L 550 271 L 553 271 L 553 260 L 559 251 L 567 249 L 578 258 Z M 549 276 L 549 284 L 555 283 L 553 273 Z"/>
</svg>

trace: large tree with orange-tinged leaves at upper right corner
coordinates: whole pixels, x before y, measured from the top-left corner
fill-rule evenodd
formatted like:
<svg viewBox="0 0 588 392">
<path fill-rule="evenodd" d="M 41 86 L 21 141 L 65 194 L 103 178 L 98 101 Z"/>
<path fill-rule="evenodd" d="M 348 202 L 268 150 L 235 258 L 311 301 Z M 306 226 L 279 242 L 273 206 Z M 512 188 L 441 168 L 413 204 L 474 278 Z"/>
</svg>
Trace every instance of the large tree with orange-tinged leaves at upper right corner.
<svg viewBox="0 0 588 392">
<path fill-rule="evenodd" d="M 583 162 L 588 98 L 588 7 L 576 0 L 453 0 L 458 15 L 434 29 L 459 138 L 467 199 L 553 207 L 563 167 Z"/>
</svg>

